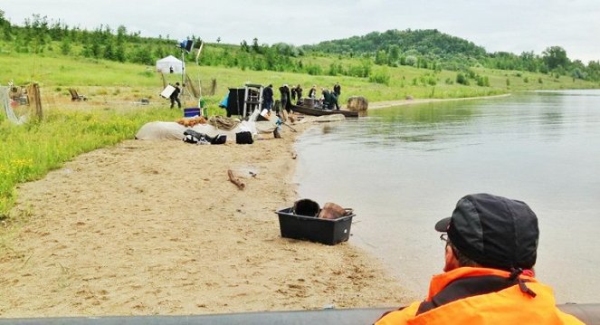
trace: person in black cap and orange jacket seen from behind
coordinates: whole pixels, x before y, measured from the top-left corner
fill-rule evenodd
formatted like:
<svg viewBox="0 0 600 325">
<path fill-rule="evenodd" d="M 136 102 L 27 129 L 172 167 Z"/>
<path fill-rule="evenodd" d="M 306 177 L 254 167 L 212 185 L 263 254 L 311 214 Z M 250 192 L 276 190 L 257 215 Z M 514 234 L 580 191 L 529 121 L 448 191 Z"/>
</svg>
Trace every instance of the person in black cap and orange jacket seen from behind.
<svg viewBox="0 0 600 325">
<path fill-rule="evenodd" d="M 444 272 L 433 276 L 424 301 L 388 311 L 376 325 L 583 324 L 534 277 L 538 217 L 526 203 L 464 196 L 435 230 L 445 242 Z"/>
</svg>

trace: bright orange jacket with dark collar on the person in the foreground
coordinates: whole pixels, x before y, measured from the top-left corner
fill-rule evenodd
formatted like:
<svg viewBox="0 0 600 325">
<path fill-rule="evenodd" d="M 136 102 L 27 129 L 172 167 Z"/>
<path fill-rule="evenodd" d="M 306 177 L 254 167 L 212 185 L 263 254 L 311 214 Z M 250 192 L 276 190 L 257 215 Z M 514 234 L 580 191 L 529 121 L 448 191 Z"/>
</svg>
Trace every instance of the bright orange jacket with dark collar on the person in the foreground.
<svg viewBox="0 0 600 325">
<path fill-rule="evenodd" d="M 510 272 L 495 269 L 461 267 L 433 276 L 425 302 L 443 291 L 451 282 L 469 277 L 497 275 L 509 278 Z M 514 284 L 498 292 L 489 292 L 445 303 L 417 315 L 423 301 L 403 310 L 387 313 L 376 325 L 387 324 L 583 324 L 575 316 L 560 311 L 552 289 L 536 279 L 520 279 L 535 297 Z"/>
</svg>

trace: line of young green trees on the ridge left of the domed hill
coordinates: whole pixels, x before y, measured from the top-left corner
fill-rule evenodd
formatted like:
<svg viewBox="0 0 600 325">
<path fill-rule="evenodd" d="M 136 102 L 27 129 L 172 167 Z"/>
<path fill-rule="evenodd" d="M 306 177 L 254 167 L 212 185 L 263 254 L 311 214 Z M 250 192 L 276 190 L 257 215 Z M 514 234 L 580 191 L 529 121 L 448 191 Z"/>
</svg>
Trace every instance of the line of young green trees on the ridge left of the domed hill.
<svg viewBox="0 0 600 325">
<path fill-rule="evenodd" d="M 17 53 L 59 53 L 92 59 L 117 62 L 133 62 L 153 65 L 157 59 L 167 55 L 179 57 L 178 42 L 169 36 L 142 37 L 140 32 L 129 32 L 124 25 L 113 30 L 109 25 L 100 25 L 92 31 L 71 27 L 54 21 L 47 16 L 32 14 L 24 24 L 11 24 L 0 10 L 0 49 Z M 195 35 L 188 37 L 194 41 L 197 50 L 202 40 Z M 183 53 L 186 60 L 194 60 L 195 53 Z M 240 45 L 211 43 L 204 47 L 201 65 L 221 65 L 239 67 L 243 70 L 269 70 L 278 72 L 304 72 L 309 74 L 342 74 L 367 77 L 371 62 L 364 61 L 349 66 L 332 65 L 325 69 L 318 64 L 302 60 L 304 51 L 291 44 L 252 43 L 245 40 Z"/>
</svg>

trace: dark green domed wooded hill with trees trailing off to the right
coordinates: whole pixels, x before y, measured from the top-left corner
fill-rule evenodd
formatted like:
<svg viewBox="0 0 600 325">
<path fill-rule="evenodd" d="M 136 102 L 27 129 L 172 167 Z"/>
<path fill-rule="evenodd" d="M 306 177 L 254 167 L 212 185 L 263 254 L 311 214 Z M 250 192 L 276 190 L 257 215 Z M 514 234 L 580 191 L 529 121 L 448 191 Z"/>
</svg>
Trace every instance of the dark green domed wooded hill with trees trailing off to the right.
<svg viewBox="0 0 600 325">
<path fill-rule="evenodd" d="M 367 55 L 377 64 L 411 65 L 427 69 L 463 70 L 473 66 L 490 69 L 556 73 L 589 81 L 600 80 L 600 62 L 571 61 L 560 46 L 549 46 L 541 55 L 533 52 L 487 53 L 462 38 L 433 30 L 368 33 L 343 40 L 304 46 L 305 51 Z"/>
</svg>

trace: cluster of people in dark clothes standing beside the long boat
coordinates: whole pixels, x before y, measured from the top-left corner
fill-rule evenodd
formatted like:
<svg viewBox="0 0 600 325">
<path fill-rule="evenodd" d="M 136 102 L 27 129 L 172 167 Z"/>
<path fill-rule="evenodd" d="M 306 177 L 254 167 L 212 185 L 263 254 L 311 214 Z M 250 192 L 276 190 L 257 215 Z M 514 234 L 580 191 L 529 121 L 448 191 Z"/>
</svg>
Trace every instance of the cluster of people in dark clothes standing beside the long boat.
<svg viewBox="0 0 600 325">
<path fill-rule="evenodd" d="M 281 110 L 286 110 L 290 112 L 291 105 L 300 104 L 304 99 L 302 97 L 302 87 L 300 84 L 297 86 L 290 87 L 287 83 L 281 85 L 279 88 L 280 91 L 280 103 Z M 313 99 L 315 101 L 319 101 L 318 107 L 322 109 L 333 109 L 335 107 L 339 110 L 338 98 L 341 94 L 341 86 L 339 82 L 333 86 L 333 91 L 329 91 L 327 88 L 321 89 L 321 98 L 317 99 L 317 85 L 313 85 L 310 88 L 308 98 Z M 262 102 L 263 109 L 272 110 L 274 105 L 274 93 L 273 93 L 273 85 L 269 84 L 262 91 Z"/>
</svg>

